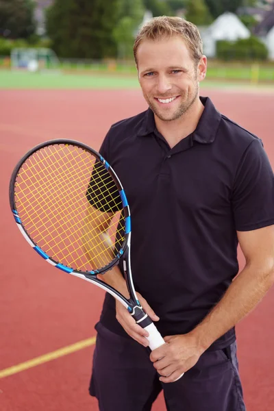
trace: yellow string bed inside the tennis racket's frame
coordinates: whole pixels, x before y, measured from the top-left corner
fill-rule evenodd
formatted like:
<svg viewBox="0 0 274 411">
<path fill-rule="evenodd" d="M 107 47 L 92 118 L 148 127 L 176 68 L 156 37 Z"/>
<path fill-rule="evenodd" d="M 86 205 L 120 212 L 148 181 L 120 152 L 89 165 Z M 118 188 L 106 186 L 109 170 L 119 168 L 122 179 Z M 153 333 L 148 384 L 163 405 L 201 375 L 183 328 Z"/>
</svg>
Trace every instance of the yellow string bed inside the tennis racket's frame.
<svg viewBox="0 0 274 411">
<path fill-rule="evenodd" d="M 88 151 L 72 145 L 40 149 L 23 164 L 15 195 L 27 233 L 53 260 L 90 271 L 109 264 L 119 252 L 115 238 L 124 240 L 125 218 L 120 212 L 111 221 L 110 216 L 121 210 L 121 197 L 105 167 Z M 89 209 L 94 210 L 88 219 L 87 197 L 92 198 Z M 90 230 L 98 210 L 101 225 L 108 225 L 112 240 L 108 245 L 98 230 Z M 83 234 L 90 239 L 85 247 Z"/>
</svg>

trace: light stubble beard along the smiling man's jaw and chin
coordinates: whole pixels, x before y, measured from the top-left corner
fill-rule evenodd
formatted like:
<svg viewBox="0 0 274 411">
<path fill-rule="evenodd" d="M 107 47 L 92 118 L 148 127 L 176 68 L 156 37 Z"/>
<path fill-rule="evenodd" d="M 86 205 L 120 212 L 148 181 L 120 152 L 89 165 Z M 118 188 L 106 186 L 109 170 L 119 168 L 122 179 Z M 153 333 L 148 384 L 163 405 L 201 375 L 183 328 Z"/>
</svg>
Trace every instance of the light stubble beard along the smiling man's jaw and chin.
<svg viewBox="0 0 274 411">
<path fill-rule="evenodd" d="M 184 93 L 183 96 L 184 97 L 186 96 L 186 99 L 184 99 L 184 101 L 182 101 L 182 103 L 179 105 L 177 110 L 169 118 L 166 118 L 166 116 L 162 115 L 159 108 L 157 107 L 157 103 L 153 102 L 153 97 L 151 99 L 149 99 L 149 97 L 147 97 L 147 96 L 144 96 L 144 97 L 147 100 L 149 108 L 153 111 L 155 116 L 158 116 L 158 118 L 162 121 L 169 122 L 169 121 L 177 120 L 180 117 L 184 116 L 184 114 L 186 114 L 186 112 L 188 112 L 188 110 L 190 109 L 192 104 L 196 101 L 198 94 L 199 94 L 199 82 L 196 81 L 195 82 L 194 94 L 189 96 L 189 95 L 186 95 L 186 93 Z M 182 94 L 180 94 L 180 96 L 182 96 Z M 164 99 L 164 97 L 163 97 L 163 99 Z"/>
</svg>

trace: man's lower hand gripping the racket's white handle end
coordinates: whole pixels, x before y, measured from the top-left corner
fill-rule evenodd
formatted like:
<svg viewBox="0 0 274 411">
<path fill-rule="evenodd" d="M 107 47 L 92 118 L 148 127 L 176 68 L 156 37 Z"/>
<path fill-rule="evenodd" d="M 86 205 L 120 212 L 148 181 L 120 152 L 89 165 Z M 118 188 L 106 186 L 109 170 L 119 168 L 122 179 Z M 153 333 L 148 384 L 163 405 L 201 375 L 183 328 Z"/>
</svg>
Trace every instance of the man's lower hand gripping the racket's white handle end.
<svg viewBox="0 0 274 411">
<path fill-rule="evenodd" d="M 197 338 L 191 333 L 166 336 L 164 341 L 166 344 L 151 352 L 150 359 L 161 375 L 160 381 L 175 382 L 197 363 L 205 350 L 199 347 Z"/>
</svg>

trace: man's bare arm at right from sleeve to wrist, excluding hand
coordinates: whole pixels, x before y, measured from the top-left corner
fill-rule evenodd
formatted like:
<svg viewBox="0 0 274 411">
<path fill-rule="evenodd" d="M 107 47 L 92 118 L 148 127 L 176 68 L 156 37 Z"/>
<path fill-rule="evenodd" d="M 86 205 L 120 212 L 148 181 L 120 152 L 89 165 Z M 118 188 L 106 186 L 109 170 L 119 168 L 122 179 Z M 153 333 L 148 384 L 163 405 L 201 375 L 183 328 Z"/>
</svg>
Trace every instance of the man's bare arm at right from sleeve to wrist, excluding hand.
<svg viewBox="0 0 274 411">
<path fill-rule="evenodd" d="M 246 264 L 193 333 L 203 349 L 253 310 L 274 283 L 274 226 L 237 232 Z"/>
</svg>

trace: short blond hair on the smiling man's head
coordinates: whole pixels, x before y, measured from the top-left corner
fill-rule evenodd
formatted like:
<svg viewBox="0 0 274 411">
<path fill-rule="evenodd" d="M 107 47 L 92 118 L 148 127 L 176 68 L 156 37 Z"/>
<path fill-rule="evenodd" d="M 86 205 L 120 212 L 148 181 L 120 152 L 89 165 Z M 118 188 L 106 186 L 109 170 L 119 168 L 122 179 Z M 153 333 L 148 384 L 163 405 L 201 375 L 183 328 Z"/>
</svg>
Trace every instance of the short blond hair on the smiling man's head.
<svg viewBox="0 0 274 411">
<path fill-rule="evenodd" d="M 138 32 L 133 48 L 136 64 L 136 53 L 142 40 L 160 40 L 172 36 L 181 36 L 185 40 L 192 59 L 198 63 L 203 55 L 203 42 L 197 26 L 184 18 L 160 16 L 151 18 Z"/>
</svg>

